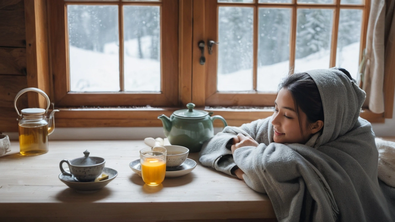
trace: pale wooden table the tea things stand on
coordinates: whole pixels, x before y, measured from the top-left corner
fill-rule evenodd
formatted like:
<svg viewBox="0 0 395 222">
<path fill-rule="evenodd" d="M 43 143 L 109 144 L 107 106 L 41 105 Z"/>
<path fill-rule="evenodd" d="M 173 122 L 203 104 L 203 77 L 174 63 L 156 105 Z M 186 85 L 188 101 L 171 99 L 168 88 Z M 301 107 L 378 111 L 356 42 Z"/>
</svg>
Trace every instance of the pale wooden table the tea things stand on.
<svg viewBox="0 0 395 222">
<path fill-rule="evenodd" d="M 49 152 L 19 155 L 19 143 L 0 157 L 0 221 L 159 221 L 231 218 L 275 218 L 267 195 L 245 182 L 202 166 L 198 153 L 188 158 L 198 166 L 160 187 L 144 186 L 129 168 L 139 158 L 143 141 L 49 141 Z M 58 179 L 63 158 L 105 158 L 118 176 L 96 193 L 81 194 Z M 226 220 L 224 220 L 226 221 Z M 270 220 L 270 221 L 273 221 Z"/>
</svg>

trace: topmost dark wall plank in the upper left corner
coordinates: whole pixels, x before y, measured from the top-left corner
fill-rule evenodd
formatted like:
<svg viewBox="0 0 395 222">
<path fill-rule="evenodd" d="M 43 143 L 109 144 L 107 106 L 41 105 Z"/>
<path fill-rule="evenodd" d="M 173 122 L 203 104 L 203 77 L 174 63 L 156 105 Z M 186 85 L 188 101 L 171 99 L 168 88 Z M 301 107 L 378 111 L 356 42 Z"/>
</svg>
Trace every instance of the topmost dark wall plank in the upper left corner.
<svg viewBox="0 0 395 222">
<path fill-rule="evenodd" d="M 26 47 L 24 1 L 0 2 L 0 46 Z"/>
</svg>

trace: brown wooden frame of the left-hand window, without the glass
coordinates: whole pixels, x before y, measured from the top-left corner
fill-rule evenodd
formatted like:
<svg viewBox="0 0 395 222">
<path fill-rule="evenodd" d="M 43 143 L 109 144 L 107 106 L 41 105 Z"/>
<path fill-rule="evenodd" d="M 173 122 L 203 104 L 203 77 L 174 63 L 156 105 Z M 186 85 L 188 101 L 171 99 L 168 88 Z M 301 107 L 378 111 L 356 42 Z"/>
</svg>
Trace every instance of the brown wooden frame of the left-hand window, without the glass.
<svg viewBox="0 0 395 222">
<path fill-rule="evenodd" d="M 53 75 L 53 94 L 58 106 L 173 106 L 178 105 L 178 1 L 76 2 L 51 0 L 49 3 L 49 33 Z M 70 92 L 67 5 L 117 5 L 119 7 L 119 71 L 121 92 Z M 123 91 L 123 10 L 124 5 L 161 6 L 161 92 Z M 166 34 L 163 34 L 164 30 Z M 164 53 L 170 55 L 164 56 Z"/>
</svg>

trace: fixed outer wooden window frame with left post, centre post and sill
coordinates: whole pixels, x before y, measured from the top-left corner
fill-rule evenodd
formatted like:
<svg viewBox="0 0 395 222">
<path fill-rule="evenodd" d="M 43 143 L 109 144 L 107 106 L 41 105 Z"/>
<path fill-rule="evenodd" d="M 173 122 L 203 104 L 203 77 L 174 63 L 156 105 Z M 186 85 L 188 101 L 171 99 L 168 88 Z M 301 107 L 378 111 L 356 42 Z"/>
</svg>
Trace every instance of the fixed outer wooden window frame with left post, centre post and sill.
<svg viewBox="0 0 395 222">
<path fill-rule="evenodd" d="M 61 110 L 61 112 L 56 113 L 56 127 L 162 126 L 162 122 L 156 119 L 158 115 L 165 114 L 169 116 L 173 111 L 184 108 L 189 102 L 196 103 L 197 107 L 200 109 L 214 111 L 216 115 L 222 115 L 231 126 L 240 126 L 246 122 L 271 116 L 273 111 L 270 109 L 217 109 L 205 107 L 206 73 L 208 69 L 207 66 L 201 66 L 199 64 L 198 56 L 200 56 L 200 51 L 196 49 L 198 41 L 208 39 L 204 31 L 204 21 L 206 19 L 204 17 L 204 10 L 206 1 L 207 0 L 179 1 L 178 87 L 173 84 L 173 87 L 179 89 L 179 105 L 151 108 L 103 109 L 93 107 L 59 107 L 59 105 L 55 103 L 56 107 Z M 32 2 L 34 2 L 34 4 Z M 51 2 L 53 2 L 53 0 L 25 0 L 25 15 L 26 27 L 34 27 L 29 29 L 26 28 L 26 45 L 32 47 L 31 51 L 29 51 L 30 49 L 26 49 L 26 51 L 29 52 L 26 56 L 31 60 L 27 62 L 28 87 L 43 88 L 43 90 L 49 94 L 51 101 L 53 101 L 55 96 L 52 78 L 55 75 L 51 73 L 53 73 L 53 65 L 58 58 L 53 57 L 51 60 L 51 55 L 56 52 L 61 53 L 62 50 L 56 47 L 56 43 L 54 43 L 53 40 L 49 44 L 51 53 L 48 52 L 45 44 L 41 44 L 47 41 L 45 33 L 51 34 L 51 31 L 48 30 L 47 23 L 50 23 L 48 21 L 50 18 L 49 15 L 53 12 L 56 13 L 56 11 L 51 12 L 51 10 L 53 10 Z M 43 16 L 46 13 L 48 13 L 48 16 Z M 192 14 L 194 14 L 193 21 Z M 365 22 L 367 22 L 367 20 Z M 52 26 L 49 25 L 49 27 L 51 28 Z M 193 32 L 195 28 L 200 28 L 203 31 L 200 33 Z M 65 37 L 60 36 L 60 38 L 60 40 L 64 41 Z M 60 40 L 56 39 L 56 41 Z M 66 58 L 66 56 L 63 55 L 63 58 Z M 45 71 L 45 65 L 48 60 L 51 65 L 50 70 Z M 372 123 L 384 122 L 384 118 L 392 118 L 394 88 L 395 75 L 386 72 L 384 77 L 385 112 L 382 114 L 375 114 L 367 109 L 363 109 L 363 111 L 361 111 L 361 117 Z M 42 99 L 38 95 L 35 95 L 35 98 L 29 97 L 29 106 L 33 103 L 39 104 L 40 106 L 45 105 L 45 101 L 41 100 Z M 214 126 L 221 127 L 222 123 L 214 122 Z"/>
</svg>

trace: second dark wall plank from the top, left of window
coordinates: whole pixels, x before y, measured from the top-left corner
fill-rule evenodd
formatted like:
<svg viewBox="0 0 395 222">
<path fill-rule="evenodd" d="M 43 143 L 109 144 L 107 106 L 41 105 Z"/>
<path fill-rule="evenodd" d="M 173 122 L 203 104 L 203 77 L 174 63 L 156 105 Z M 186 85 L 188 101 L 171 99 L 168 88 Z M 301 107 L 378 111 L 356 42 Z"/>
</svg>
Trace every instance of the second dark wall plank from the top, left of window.
<svg viewBox="0 0 395 222">
<path fill-rule="evenodd" d="M 0 47 L 0 75 L 26 75 L 25 48 Z"/>
</svg>

